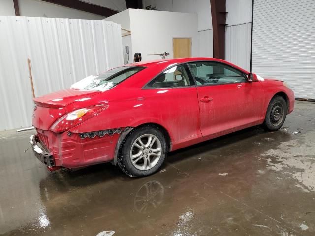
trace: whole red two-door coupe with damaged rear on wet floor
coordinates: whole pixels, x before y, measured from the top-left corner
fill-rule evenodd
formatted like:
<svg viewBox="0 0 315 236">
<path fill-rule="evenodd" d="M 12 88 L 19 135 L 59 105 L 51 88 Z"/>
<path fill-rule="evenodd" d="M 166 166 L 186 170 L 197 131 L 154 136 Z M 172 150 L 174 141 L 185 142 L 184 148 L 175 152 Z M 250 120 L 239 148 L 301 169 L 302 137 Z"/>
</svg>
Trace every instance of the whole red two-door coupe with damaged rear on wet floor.
<svg viewBox="0 0 315 236">
<path fill-rule="evenodd" d="M 112 162 L 143 177 L 169 151 L 254 125 L 278 130 L 294 93 L 224 60 L 182 58 L 111 69 L 34 102 L 30 142 L 49 170 Z"/>
</svg>

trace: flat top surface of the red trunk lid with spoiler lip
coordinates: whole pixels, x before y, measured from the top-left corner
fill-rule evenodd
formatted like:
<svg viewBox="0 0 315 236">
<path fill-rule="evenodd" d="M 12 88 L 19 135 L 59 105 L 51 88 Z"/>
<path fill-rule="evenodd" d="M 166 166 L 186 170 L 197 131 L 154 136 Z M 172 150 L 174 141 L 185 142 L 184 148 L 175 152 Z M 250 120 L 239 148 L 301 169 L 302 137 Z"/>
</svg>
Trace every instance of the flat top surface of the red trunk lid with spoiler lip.
<svg viewBox="0 0 315 236">
<path fill-rule="evenodd" d="M 64 89 L 57 92 L 52 92 L 41 97 L 34 98 L 34 102 L 37 106 L 60 108 L 65 107 L 76 101 L 89 100 L 91 96 L 94 96 L 101 91 L 82 91 Z"/>
</svg>

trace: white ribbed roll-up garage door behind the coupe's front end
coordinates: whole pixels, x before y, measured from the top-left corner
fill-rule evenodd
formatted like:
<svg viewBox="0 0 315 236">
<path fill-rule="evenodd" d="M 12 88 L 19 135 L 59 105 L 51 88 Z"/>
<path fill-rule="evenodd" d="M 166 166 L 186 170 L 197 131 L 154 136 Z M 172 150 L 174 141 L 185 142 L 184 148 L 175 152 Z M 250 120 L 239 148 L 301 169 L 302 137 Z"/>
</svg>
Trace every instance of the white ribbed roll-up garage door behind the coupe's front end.
<svg viewBox="0 0 315 236">
<path fill-rule="evenodd" d="M 315 0 L 254 0 L 252 71 L 315 99 Z"/>
</svg>

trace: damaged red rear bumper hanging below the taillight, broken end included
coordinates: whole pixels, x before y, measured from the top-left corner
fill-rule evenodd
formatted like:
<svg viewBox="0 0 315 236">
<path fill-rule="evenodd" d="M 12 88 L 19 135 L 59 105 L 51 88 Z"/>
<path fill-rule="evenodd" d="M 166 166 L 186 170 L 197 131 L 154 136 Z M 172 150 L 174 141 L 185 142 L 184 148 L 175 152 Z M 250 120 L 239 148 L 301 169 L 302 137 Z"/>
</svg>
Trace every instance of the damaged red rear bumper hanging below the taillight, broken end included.
<svg viewBox="0 0 315 236">
<path fill-rule="evenodd" d="M 73 169 L 112 161 L 120 136 L 114 133 L 103 137 L 82 138 L 82 135 L 76 133 L 36 130 L 37 134 L 31 136 L 33 152 L 47 167 L 55 168 Z"/>
</svg>

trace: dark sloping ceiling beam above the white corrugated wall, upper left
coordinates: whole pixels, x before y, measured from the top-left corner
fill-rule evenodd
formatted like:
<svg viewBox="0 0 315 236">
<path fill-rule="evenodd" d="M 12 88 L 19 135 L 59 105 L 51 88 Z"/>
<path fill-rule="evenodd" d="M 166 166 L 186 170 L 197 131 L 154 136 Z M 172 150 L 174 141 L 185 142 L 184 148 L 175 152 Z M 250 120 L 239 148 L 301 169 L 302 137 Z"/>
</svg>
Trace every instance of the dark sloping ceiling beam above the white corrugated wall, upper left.
<svg viewBox="0 0 315 236">
<path fill-rule="evenodd" d="M 113 10 L 104 6 L 99 6 L 95 4 L 91 4 L 81 0 L 41 0 L 49 3 L 54 3 L 57 5 L 73 8 L 80 11 L 85 11 L 89 13 L 93 13 L 100 16 L 109 17 L 112 16 L 119 11 Z"/>
</svg>

